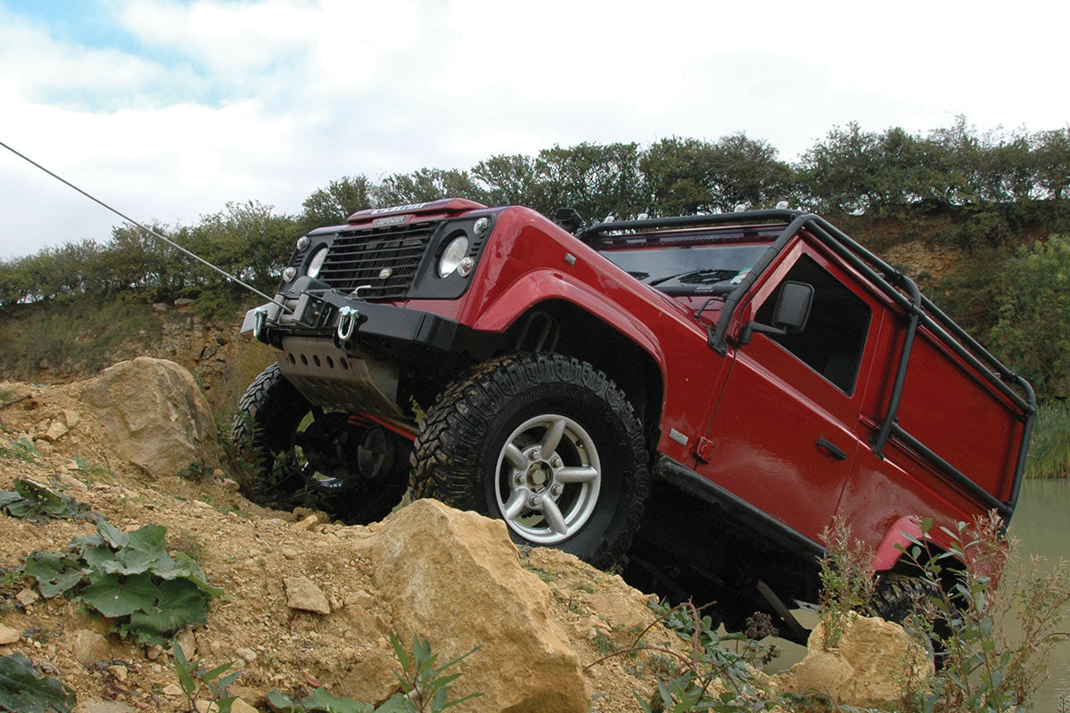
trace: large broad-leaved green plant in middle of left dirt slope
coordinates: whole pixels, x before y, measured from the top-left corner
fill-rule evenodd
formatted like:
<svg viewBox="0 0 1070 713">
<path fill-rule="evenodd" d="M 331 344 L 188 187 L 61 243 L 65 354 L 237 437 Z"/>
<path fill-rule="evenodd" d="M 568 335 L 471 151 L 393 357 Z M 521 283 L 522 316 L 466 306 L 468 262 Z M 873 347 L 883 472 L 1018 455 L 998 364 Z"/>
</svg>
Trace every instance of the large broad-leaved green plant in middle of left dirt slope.
<svg viewBox="0 0 1070 713">
<path fill-rule="evenodd" d="M 190 557 L 168 554 L 166 528 L 144 525 L 127 534 L 103 516 L 96 523 L 94 534 L 74 538 L 65 552 L 27 557 L 24 570 L 43 596 L 71 595 L 113 620 L 120 636 L 150 646 L 205 623 L 209 601 L 223 590 Z"/>
</svg>

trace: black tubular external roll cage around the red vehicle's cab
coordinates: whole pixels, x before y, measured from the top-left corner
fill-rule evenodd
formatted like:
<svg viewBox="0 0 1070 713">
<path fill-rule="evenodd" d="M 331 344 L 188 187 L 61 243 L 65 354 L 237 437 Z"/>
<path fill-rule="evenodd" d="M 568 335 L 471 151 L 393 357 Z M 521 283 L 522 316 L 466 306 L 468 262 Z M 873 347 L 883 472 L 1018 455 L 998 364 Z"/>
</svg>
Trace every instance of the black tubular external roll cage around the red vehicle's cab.
<svg viewBox="0 0 1070 713">
<path fill-rule="evenodd" d="M 906 331 L 903 346 L 899 354 L 896 368 L 896 381 L 892 385 L 888 410 L 881 421 L 881 428 L 870 441 L 873 453 L 884 459 L 884 448 L 892 435 L 902 440 L 912 450 L 932 463 L 960 486 L 995 509 L 1009 520 L 1018 503 L 1025 472 L 1025 456 L 1028 451 L 1029 437 L 1033 433 L 1034 418 L 1037 413 L 1037 396 L 1029 383 L 1008 369 L 988 350 L 954 323 L 938 307 L 924 297 L 914 280 L 881 260 L 870 250 L 862 247 L 854 238 L 821 216 L 812 213 L 790 210 L 744 211 L 739 213 L 719 213 L 713 215 L 677 216 L 671 218 L 649 218 L 644 220 L 622 220 L 600 222 L 591 226 L 577 237 L 586 244 L 594 243 L 599 236 L 617 231 L 645 231 L 659 228 L 697 228 L 706 226 L 753 224 L 755 222 L 786 222 L 776 239 L 769 244 L 762 257 L 754 263 L 750 272 L 736 288 L 724 298 L 717 326 L 709 336 L 709 345 L 718 354 L 728 354 L 727 334 L 732 314 L 739 300 L 754 284 L 754 281 L 773 264 L 791 239 L 804 228 L 820 243 L 832 250 L 854 269 L 858 270 L 881 292 L 899 305 L 906 319 Z M 905 293 L 905 294 L 904 294 Z M 978 371 L 996 390 L 1007 397 L 1023 412 L 1025 428 L 1022 432 L 1022 443 L 1019 448 L 1018 461 L 1014 467 L 1014 483 L 1011 497 L 1006 502 L 992 496 L 983 487 L 970 480 L 965 474 L 937 455 L 920 440 L 907 433 L 898 423 L 899 404 L 903 396 L 903 385 L 906 381 L 906 370 L 911 360 L 911 348 L 917 335 L 918 324 L 924 325 L 936 338 L 957 354 L 966 363 Z M 1021 393 L 1011 388 L 1013 385 Z"/>
</svg>

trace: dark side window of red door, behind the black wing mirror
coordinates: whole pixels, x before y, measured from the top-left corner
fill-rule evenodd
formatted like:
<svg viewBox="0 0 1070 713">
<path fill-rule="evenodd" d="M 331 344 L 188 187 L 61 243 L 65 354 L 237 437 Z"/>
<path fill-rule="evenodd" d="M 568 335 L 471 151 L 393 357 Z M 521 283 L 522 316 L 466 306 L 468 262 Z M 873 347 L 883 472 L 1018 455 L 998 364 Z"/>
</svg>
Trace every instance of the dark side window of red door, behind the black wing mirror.
<svg viewBox="0 0 1070 713">
<path fill-rule="evenodd" d="M 765 335 L 845 393 L 855 388 L 866 345 L 870 308 L 809 255 L 801 255 L 784 280 L 813 285 L 813 306 L 806 328 L 792 335 Z M 780 286 L 773 291 L 755 317 L 773 324 Z"/>
</svg>

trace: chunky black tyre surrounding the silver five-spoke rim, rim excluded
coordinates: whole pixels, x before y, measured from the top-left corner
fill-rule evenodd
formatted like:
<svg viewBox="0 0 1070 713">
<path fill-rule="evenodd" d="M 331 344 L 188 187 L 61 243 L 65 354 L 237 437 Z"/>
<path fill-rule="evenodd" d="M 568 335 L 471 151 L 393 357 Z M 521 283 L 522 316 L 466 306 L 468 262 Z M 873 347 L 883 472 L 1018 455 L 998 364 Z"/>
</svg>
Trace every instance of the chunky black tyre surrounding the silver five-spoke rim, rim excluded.
<svg viewBox="0 0 1070 713">
<path fill-rule="evenodd" d="M 560 414 L 577 433 L 590 433 L 600 463 L 590 516 L 550 546 L 601 569 L 622 563 L 649 491 L 642 427 L 624 392 L 577 359 L 517 354 L 479 365 L 454 382 L 428 410 L 416 438 L 413 494 L 504 518 L 494 490 L 503 449 L 525 419 L 542 414 Z M 520 544 L 542 544 L 513 527 L 509 534 Z"/>
</svg>

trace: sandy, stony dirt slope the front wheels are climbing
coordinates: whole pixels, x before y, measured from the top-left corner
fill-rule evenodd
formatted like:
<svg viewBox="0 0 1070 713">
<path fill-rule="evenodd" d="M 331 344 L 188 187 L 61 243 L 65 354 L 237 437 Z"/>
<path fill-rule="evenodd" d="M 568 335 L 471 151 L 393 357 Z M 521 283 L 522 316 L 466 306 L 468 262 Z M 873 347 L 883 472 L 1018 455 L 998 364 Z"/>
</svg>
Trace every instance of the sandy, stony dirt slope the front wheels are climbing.
<svg viewBox="0 0 1070 713">
<path fill-rule="evenodd" d="M 389 669 L 396 664 L 386 637 L 411 632 L 414 621 L 412 609 L 396 592 L 384 592 L 392 587 L 377 584 L 377 563 L 368 556 L 369 538 L 395 527 L 391 520 L 370 528 L 346 527 L 316 513 L 265 510 L 239 495 L 235 483 L 218 469 L 200 481 L 149 477 L 116 454 L 104 427 L 79 399 L 79 384 L 3 383 L 0 391 L 9 400 L 28 397 L 0 410 L 0 445 L 19 438 L 32 443 L 35 437 L 37 444 L 37 452 L 25 458 L 11 448 L 4 451 L 0 490 L 12 490 L 16 478 L 30 478 L 88 503 L 120 529 L 166 526 L 170 548 L 196 556 L 208 579 L 226 591 L 213 602 L 208 625 L 185 637 L 185 644 L 212 664 L 239 662 L 244 672 L 236 691 L 243 699 L 262 706 L 261 695 L 273 687 L 308 693 L 320 684 L 340 694 L 388 693 Z M 652 689 L 655 662 L 648 656 L 621 656 L 582 668 L 602 657 L 610 641 L 629 644 L 629 626 L 653 620 L 644 595 L 620 577 L 555 551 L 521 556 L 505 538 L 504 527 L 500 530 L 501 542 L 491 544 L 509 548 L 511 567 L 519 565 L 534 582 L 524 586 L 542 592 L 555 630 L 575 652 L 585 706 L 593 700 L 597 711 L 637 710 L 632 692 L 645 695 Z M 0 565 L 18 565 L 35 551 L 62 549 L 71 538 L 92 531 L 90 520 L 37 525 L 0 515 Z M 331 614 L 288 606 L 288 577 L 311 580 L 324 593 Z M 109 635 L 106 622 L 62 598 L 31 601 L 22 589 L 18 583 L 0 591 L 0 624 L 18 633 L 18 640 L 0 646 L 0 655 L 21 652 L 51 670 L 77 693 L 79 711 L 185 710 L 185 699 L 174 695 L 167 654 Z M 478 601 L 462 608 L 483 619 L 513 616 L 508 610 L 480 610 Z M 86 632 L 105 635 L 106 645 Z M 440 632 L 416 633 L 427 636 L 432 647 L 454 653 Z M 659 627 L 647 638 L 668 641 L 672 636 Z M 79 662 L 79 654 L 89 663 Z M 470 679 L 478 678 L 479 666 L 495 666 L 478 660 L 476 654 L 471 666 L 468 661 L 462 666 Z M 532 678 L 538 673 L 526 671 Z M 374 680 L 385 683 L 379 688 L 367 684 Z M 102 701 L 116 701 L 116 707 L 93 708 Z"/>
</svg>

